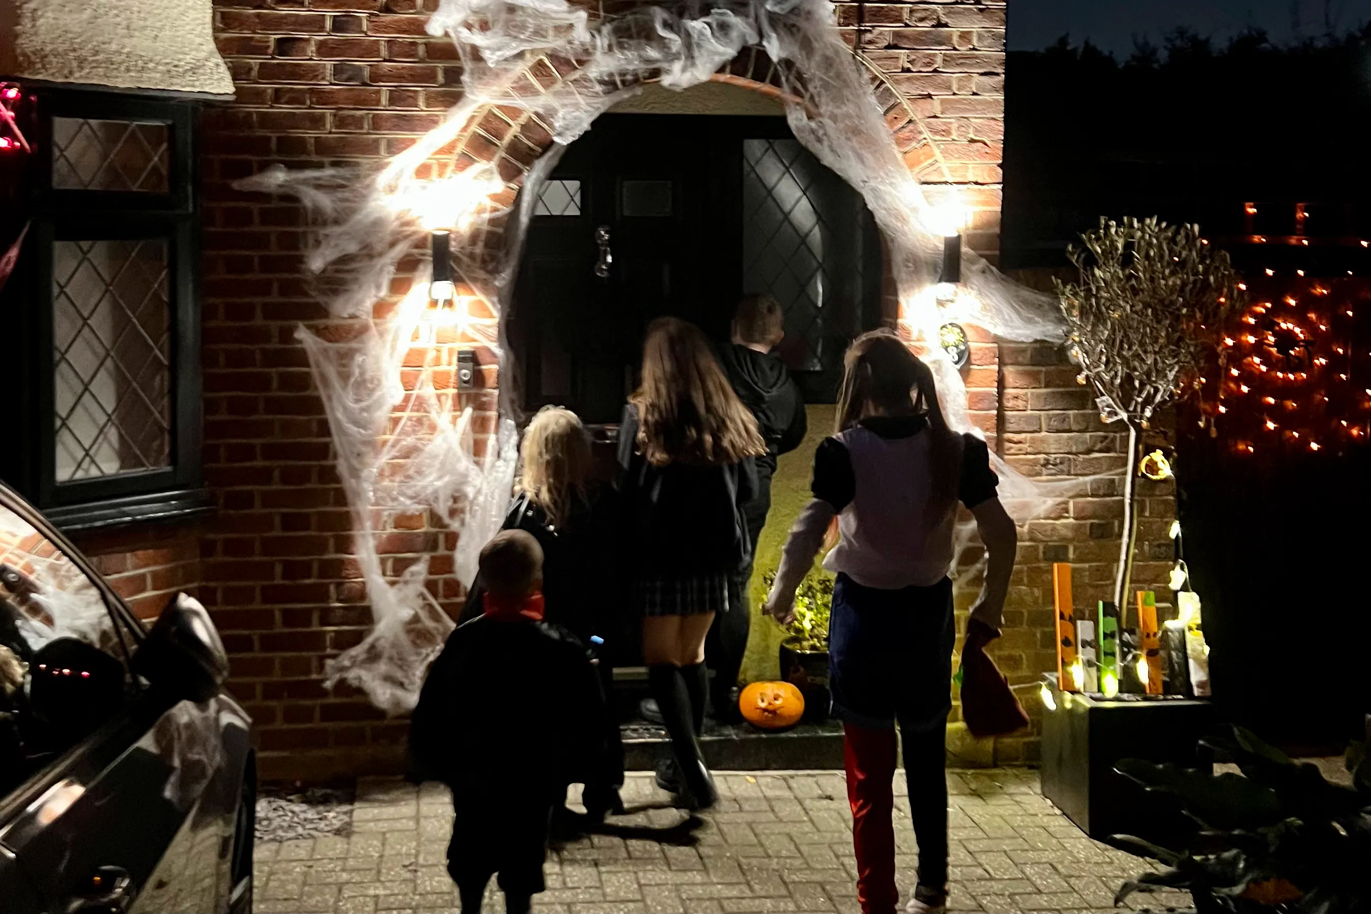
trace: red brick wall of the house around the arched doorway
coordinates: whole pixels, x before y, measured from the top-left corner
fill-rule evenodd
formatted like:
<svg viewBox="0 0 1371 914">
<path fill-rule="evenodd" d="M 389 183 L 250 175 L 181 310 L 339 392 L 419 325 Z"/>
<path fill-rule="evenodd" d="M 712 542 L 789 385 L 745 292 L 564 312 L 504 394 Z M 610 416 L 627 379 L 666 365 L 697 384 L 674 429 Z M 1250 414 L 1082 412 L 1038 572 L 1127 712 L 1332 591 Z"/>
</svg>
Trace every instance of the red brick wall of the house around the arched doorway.
<svg viewBox="0 0 1371 914">
<path fill-rule="evenodd" d="M 969 240 L 994 256 L 1005 4 L 842 3 L 838 16 L 882 70 L 873 90 L 893 141 L 921 177 L 964 186 L 978 210 Z M 435 126 L 459 97 L 461 66 L 446 40 L 425 34 L 425 19 L 420 0 L 215 1 L 237 97 L 204 125 L 204 462 L 219 511 L 202 537 L 199 593 L 233 655 L 232 688 L 256 718 L 269 778 L 393 770 L 404 724 L 345 688 L 322 687 L 325 659 L 356 644 L 370 619 L 328 423 L 293 336 L 302 322 L 321 328 L 325 315 L 304 280 L 298 208 L 229 184 L 271 163 L 376 163 Z M 750 78 L 750 66 L 735 74 Z M 481 125 L 459 152 L 499 158 L 517 184 L 546 134 L 507 112 Z M 403 289 L 402 280 L 395 292 Z M 488 371 L 485 382 L 495 381 Z M 1026 473 L 1119 463 L 1117 436 L 1098 426 L 1060 352 L 978 338 L 968 385 L 975 421 Z M 489 391 L 476 403 L 494 408 Z M 1082 599 L 1106 588 L 1120 511 L 1113 495 L 1101 486 L 1027 532 L 997 654 L 1016 680 L 1054 666 L 1050 562 L 1080 565 Z M 1169 502 L 1158 495 L 1146 510 L 1160 518 Z M 392 573 L 451 548 L 424 518 L 396 528 L 384 544 Z M 433 586 L 455 608 L 444 562 L 436 555 Z M 1150 573 L 1139 569 L 1139 581 Z M 1034 743 L 1004 741 L 997 754 L 1031 759 Z"/>
</svg>

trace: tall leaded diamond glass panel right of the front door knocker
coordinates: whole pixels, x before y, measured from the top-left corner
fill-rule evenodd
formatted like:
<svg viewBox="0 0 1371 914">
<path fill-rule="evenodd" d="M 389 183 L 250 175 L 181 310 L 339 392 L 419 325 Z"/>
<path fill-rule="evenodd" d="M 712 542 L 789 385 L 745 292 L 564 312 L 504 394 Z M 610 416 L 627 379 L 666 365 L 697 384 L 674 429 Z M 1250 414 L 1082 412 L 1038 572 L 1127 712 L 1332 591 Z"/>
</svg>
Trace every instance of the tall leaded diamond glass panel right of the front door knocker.
<svg viewBox="0 0 1371 914">
<path fill-rule="evenodd" d="M 786 310 L 788 362 L 817 371 L 824 306 L 827 226 L 817 200 L 823 166 L 795 140 L 743 141 L 743 291 L 765 292 Z"/>
</svg>

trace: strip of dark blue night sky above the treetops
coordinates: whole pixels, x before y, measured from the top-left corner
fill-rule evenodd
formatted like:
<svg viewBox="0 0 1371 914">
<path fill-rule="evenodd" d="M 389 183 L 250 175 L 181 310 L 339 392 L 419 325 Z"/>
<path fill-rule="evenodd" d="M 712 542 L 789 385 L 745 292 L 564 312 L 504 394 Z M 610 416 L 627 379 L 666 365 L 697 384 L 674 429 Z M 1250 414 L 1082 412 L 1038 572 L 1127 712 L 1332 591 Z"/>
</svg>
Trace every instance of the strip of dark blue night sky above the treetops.
<svg viewBox="0 0 1371 914">
<path fill-rule="evenodd" d="M 1178 26 L 1220 42 L 1248 27 L 1265 29 L 1276 42 L 1345 34 L 1371 18 L 1371 0 L 1012 0 L 1009 49 L 1035 51 L 1071 33 L 1127 56 L 1134 36 L 1154 44 Z"/>
</svg>

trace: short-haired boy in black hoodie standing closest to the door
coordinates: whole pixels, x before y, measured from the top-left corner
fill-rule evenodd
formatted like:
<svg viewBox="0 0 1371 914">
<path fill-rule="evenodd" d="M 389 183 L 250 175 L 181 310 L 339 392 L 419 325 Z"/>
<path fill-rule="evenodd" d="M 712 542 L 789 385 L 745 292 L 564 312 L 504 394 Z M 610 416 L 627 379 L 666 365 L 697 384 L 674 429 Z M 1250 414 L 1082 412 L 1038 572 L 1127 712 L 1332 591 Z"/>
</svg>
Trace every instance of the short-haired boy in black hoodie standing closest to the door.
<svg viewBox="0 0 1371 914">
<path fill-rule="evenodd" d="M 786 365 L 772 355 L 784 336 L 786 312 L 780 303 L 769 295 L 749 295 L 733 314 L 728 345 L 714 351 L 738 399 L 757 418 L 757 428 L 766 443 L 766 454 L 757 458 L 757 493 L 743 506 L 754 559 L 757 540 L 771 511 L 771 481 L 776 473 L 776 458 L 798 448 L 808 430 L 799 386 L 790 377 Z M 753 614 L 747 606 L 747 584 L 751 577 L 750 559 L 729 582 L 729 606 L 738 606 L 742 611 L 717 617 L 705 640 L 705 663 L 714 671 L 710 680 L 710 704 L 714 707 L 714 717 L 721 721 L 739 718 L 733 689 L 751 629 Z"/>
</svg>

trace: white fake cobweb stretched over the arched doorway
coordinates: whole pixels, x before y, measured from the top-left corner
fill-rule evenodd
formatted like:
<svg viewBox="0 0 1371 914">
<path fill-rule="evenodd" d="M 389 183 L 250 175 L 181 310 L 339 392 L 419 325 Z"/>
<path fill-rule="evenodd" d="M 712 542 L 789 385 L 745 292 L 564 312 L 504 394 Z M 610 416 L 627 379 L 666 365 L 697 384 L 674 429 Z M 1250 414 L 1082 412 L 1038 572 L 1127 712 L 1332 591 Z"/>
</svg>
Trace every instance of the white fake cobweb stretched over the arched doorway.
<svg viewBox="0 0 1371 914">
<path fill-rule="evenodd" d="M 454 534 L 457 573 L 469 584 L 476 551 L 502 521 L 517 462 L 510 415 L 484 452 L 477 447 L 473 412 L 446 384 L 444 344 L 500 352 L 499 318 L 531 201 L 561 151 L 647 82 L 679 90 L 729 78 L 716 74 L 727 74 L 744 48 L 761 47 L 797 138 L 875 215 L 902 321 L 916 338 L 936 340 L 947 321 L 1009 340 L 1063 338 L 1050 296 L 1010 282 L 971 251 L 962 255 L 968 293 L 951 308 L 934 301 L 942 237 L 932 230 L 931 201 L 891 141 L 871 73 L 843 42 L 829 0 L 688 0 L 605 16 L 568 0 L 441 0 L 428 27 L 448 34 L 463 63 L 463 100 L 441 126 L 376 174 L 276 166 L 240 184 L 300 200 L 314 227 L 307 269 L 337 319 L 319 332 L 302 328 L 299 336 L 324 396 L 374 628 L 329 663 L 330 685 L 347 681 L 389 713 L 417 700 L 451 622 L 425 588 L 429 563 L 388 576 L 377 541 L 396 518 L 436 518 Z M 509 129 L 498 158 L 483 160 L 469 149 L 492 112 Z M 521 132 L 553 143 L 542 158 L 542 148 L 524 144 L 526 167 L 515 155 Z M 414 282 L 398 306 L 389 296 L 402 258 L 422 251 L 436 227 L 452 230 L 461 284 L 451 314 L 429 307 L 426 281 Z M 936 345 L 925 358 L 949 422 L 972 432 L 961 377 Z M 1090 485 L 1086 478 L 1028 480 L 991 459 L 1020 523 Z M 958 555 L 971 534 L 958 532 Z"/>
</svg>

